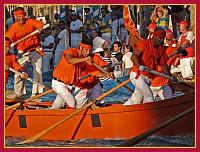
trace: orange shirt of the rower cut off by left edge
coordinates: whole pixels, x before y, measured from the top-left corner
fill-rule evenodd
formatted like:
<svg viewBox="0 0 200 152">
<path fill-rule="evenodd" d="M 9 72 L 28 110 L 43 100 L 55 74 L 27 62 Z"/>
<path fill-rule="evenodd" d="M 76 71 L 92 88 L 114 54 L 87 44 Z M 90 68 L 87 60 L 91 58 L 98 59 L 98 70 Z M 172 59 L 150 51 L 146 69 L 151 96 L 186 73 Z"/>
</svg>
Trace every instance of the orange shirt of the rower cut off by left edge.
<svg viewBox="0 0 200 152">
<path fill-rule="evenodd" d="M 8 53 L 5 55 L 5 61 L 6 64 L 10 67 L 13 68 L 15 70 L 19 70 L 21 68 L 21 65 L 19 64 L 19 62 L 17 62 L 17 59 L 15 57 L 14 54 L 12 53 Z M 5 70 L 5 84 L 8 83 L 8 76 L 10 74 L 9 70 Z"/>
</svg>

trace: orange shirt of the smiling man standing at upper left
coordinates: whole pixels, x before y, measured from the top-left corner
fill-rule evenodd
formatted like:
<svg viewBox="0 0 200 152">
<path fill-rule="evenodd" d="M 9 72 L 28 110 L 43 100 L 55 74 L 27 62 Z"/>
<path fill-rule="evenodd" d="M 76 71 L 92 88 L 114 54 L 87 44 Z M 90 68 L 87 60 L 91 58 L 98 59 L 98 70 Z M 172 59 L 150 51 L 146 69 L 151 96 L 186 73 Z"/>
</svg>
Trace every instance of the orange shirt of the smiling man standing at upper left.
<svg viewBox="0 0 200 152">
<path fill-rule="evenodd" d="M 37 30 L 38 27 L 43 26 L 44 23 L 35 19 L 26 18 L 24 25 L 19 26 L 18 22 L 14 23 L 6 32 L 5 37 L 8 37 L 11 43 L 20 40 L 21 38 L 29 35 L 33 31 Z M 15 47 L 18 50 L 29 52 L 35 50 L 39 46 L 38 34 L 34 34 L 29 38 L 19 42 Z"/>
</svg>

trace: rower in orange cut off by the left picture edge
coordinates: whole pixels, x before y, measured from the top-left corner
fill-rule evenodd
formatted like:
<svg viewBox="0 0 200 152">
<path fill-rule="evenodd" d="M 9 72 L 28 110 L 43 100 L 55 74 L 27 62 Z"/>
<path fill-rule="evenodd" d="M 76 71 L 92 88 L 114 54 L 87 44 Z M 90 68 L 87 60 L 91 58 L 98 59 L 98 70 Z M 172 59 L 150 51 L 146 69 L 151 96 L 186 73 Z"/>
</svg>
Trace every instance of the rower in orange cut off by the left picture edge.
<svg viewBox="0 0 200 152">
<path fill-rule="evenodd" d="M 5 46 L 10 46 L 10 42 L 6 41 Z M 8 76 L 10 74 L 9 68 L 22 72 L 23 75 L 20 76 L 22 79 L 28 77 L 28 75 L 23 71 L 21 65 L 17 62 L 15 55 L 10 53 L 7 47 L 5 47 L 5 84 L 8 83 Z"/>
</svg>

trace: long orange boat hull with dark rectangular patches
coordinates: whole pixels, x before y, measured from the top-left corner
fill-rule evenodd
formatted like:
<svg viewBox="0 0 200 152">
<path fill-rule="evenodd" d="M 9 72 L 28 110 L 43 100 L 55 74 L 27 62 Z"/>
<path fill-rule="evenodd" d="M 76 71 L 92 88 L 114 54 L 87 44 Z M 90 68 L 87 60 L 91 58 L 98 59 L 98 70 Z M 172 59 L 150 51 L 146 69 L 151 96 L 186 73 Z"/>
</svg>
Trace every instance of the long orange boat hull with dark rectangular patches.
<svg viewBox="0 0 200 152">
<path fill-rule="evenodd" d="M 82 138 L 129 139 L 195 105 L 195 92 L 132 106 L 113 104 L 95 110 L 86 109 L 66 120 L 40 139 L 72 140 Z M 5 136 L 31 137 L 54 125 L 73 109 L 8 110 L 5 112 Z M 177 120 L 154 135 L 194 135 L 195 112 Z"/>
</svg>

